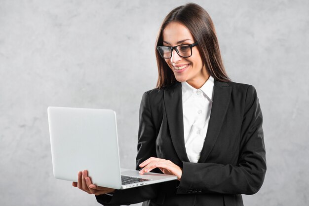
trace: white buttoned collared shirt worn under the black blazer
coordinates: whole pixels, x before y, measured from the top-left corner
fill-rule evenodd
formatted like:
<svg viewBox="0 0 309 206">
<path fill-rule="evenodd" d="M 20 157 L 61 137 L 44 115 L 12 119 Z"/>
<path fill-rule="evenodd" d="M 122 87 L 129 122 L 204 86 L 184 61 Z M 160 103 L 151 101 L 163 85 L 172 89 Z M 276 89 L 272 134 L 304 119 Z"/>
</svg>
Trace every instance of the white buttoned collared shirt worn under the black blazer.
<svg viewBox="0 0 309 206">
<path fill-rule="evenodd" d="M 214 78 L 209 76 L 204 85 L 195 89 L 187 82 L 181 83 L 185 146 L 190 162 L 199 160 L 209 124 Z"/>
</svg>

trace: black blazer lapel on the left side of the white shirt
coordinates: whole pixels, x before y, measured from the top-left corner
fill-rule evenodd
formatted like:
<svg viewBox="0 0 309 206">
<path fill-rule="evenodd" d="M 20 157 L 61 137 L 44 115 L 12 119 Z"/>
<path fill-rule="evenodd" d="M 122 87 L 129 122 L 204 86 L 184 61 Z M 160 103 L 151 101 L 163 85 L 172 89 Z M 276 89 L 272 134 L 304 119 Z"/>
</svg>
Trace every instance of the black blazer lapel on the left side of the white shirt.
<svg viewBox="0 0 309 206">
<path fill-rule="evenodd" d="M 164 106 L 176 153 L 181 161 L 190 162 L 185 147 L 181 83 L 164 91 Z"/>
</svg>

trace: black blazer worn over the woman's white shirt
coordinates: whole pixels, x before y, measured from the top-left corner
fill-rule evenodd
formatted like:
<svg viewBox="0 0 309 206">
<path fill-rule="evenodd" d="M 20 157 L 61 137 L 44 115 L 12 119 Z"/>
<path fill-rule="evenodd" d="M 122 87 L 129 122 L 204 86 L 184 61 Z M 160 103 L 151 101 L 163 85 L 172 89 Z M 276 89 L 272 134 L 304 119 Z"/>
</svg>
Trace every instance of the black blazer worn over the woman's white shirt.
<svg viewBox="0 0 309 206">
<path fill-rule="evenodd" d="M 262 113 L 253 86 L 215 80 L 213 103 L 198 163 L 184 142 L 181 83 L 145 92 L 140 106 L 136 169 L 149 157 L 183 169 L 174 180 L 96 196 L 102 205 L 242 206 L 241 194 L 256 193 L 266 172 Z M 159 172 L 159 170 L 156 170 Z"/>
</svg>

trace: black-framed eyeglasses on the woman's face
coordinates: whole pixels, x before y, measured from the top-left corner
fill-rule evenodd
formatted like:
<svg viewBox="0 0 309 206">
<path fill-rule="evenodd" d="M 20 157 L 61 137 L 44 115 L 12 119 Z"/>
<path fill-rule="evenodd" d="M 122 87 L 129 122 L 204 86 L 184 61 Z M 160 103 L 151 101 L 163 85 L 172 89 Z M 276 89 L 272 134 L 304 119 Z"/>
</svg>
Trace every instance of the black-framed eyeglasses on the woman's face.
<svg viewBox="0 0 309 206">
<path fill-rule="evenodd" d="M 169 59 L 172 57 L 173 50 L 175 49 L 180 57 L 187 58 L 192 56 L 192 47 L 196 46 L 198 43 L 193 44 L 180 44 L 177 46 L 157 46 L 159 54 L 164 59 Z"/>
</svg>

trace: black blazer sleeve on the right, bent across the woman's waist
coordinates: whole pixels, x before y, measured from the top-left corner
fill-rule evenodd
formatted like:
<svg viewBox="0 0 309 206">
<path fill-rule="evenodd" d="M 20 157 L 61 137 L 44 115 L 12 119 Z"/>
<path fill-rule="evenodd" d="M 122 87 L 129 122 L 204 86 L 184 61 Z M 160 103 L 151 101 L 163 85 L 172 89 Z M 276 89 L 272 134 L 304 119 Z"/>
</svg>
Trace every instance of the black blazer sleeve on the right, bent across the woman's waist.
<svg viewBox="0 0 309 206">
<path fill-rule="evenodd" d="M 237 164 L 183 162 L 183 174 L 177 194 L 193 191 L 254 194 L 261 188 L 266 173 L 263 118 L 254 87 L 249 86 L 246 93 Z"/>
</svg>

